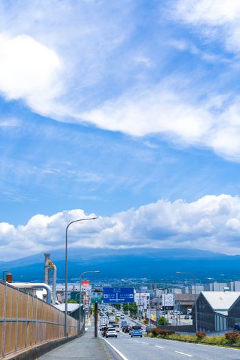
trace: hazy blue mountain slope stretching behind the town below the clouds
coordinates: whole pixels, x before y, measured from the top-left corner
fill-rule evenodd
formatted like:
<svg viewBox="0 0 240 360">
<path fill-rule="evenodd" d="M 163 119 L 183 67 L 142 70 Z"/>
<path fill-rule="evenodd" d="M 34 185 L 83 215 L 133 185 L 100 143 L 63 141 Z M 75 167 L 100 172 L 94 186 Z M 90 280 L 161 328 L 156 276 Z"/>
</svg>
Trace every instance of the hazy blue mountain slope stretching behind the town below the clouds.
<svg viewBox="0 0 240 360">
<path fill-rule="evenodd" d="M 49 251 L 64 278 L 64 249 Z M 240 256 L 228 256 L 191 249 L 69 249 L 69 278 L 83 271 L 98 269 L 99 278 L 176 278 L 176 271 L 193 272 L 199 279 L 212 277 L 240 278 Z M 43 253 L 23 259 L 1 262 L 0 271 L 9 269 L 14 280 L 43 281 Z M 187 278 L 187 276 L 186 276 Z M 221 276 L 221 280 L 223 277 Z"/>
</svg>

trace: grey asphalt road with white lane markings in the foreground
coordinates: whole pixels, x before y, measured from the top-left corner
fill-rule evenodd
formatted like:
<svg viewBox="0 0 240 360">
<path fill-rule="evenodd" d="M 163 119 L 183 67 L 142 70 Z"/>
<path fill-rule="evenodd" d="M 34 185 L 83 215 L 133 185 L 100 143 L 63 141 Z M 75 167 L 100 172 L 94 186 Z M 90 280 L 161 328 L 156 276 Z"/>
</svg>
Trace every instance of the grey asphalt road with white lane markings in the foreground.
<svg viewBox="0 0 240 360">
<path fill-rule="evenodd" d="M 126 320 L 131 323 L 129 317 L 126 317 Z M 125 356 L 125 360 L 240 360 L 240 350 L 236 349 L 150 337 L 132 338 L 122 332 L 117 339 L 108 337 L 105 341 L 115 346 Z"/>
</svg>

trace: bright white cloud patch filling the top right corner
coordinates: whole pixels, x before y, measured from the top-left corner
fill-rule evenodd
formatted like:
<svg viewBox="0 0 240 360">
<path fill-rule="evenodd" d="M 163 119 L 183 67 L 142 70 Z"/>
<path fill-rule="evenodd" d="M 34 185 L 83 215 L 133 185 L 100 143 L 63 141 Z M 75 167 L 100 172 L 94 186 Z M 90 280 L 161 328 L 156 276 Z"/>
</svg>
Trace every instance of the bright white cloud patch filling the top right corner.
<svg viewBox="0 0 240 360">
<path fill-rule="evenodd" d="M 240 51 L 239 0 L 178 0 L 173 2 L 172 11 L 204 38 L 220 40 L 229 51 Z"/>
</svg>

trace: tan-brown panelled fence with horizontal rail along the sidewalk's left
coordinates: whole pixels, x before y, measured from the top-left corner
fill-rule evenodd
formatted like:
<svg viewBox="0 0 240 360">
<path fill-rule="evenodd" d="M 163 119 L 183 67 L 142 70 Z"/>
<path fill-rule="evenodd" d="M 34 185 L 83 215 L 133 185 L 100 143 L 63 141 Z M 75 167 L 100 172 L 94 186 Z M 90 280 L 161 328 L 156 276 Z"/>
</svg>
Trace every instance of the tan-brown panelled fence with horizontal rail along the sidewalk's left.
<svg viewBox="0 0 240 360">
<path fill-rule="evenodd" d="M 77 320 L 68 316 L 69 336 Z M 0 359 L 11 352 L 64 337 L 64 313 L 43 300 L 0 282 Z"/>
</svg>

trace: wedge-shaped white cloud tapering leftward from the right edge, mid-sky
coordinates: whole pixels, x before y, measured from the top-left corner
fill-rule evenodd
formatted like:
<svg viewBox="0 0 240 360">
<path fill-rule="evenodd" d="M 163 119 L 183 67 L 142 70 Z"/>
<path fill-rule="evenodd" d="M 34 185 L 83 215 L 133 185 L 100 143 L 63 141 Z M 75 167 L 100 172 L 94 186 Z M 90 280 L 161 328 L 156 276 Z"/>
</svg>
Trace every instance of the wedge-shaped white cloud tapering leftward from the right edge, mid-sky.
<svg viewBox="0 0 240 360">
<path fill-rule="evenodd" d="M 75 117 L 132 136 L 164 134 L 173 143 L 208 147 L 220 156 L 240 160 L 239 97 L 206 97 L 182 77 L 145 91 L 135 89 L 134 94 L 126 93 Z"/>
</svg>

